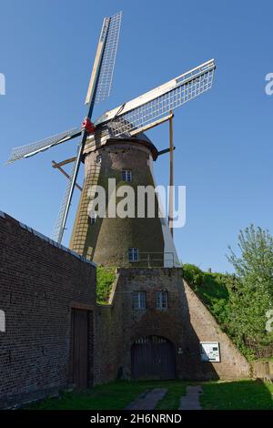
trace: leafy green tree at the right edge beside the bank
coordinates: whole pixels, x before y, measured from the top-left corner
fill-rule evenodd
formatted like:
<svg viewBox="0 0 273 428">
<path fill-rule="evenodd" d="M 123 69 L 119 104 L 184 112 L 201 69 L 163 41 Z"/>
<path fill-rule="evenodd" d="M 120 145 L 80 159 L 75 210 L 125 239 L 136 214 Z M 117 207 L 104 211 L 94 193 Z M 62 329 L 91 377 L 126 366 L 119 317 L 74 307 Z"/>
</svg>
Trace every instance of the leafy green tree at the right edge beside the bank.
<svg viewBox="0 0 273 428">
<path fill-rule="evenodd" d="M 227 256 L 235 269 L 235 287 L 230 290 L 229 327 L 242 344 L 272 341 L 266 330 L 267 312 L 273 309 L 273 237 L 268 230 L 250 225 L 238 236 L 239 255 Z"/>
</svg>

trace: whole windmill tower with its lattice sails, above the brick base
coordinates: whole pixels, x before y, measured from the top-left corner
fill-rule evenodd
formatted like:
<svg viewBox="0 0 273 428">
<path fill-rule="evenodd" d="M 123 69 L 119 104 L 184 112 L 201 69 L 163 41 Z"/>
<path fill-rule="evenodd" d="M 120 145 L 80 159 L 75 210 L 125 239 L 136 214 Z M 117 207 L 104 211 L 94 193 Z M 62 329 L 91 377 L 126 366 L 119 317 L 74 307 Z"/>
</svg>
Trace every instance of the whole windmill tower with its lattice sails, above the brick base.
<svg viewBox="0 0 273 428">
<path fill-rule="evenodd" d="M 168 221 L 162 217 L 157 195 L 152 216 L 147 207 L 141 211 L 142 202 L 139 199 L 135 199 L 133 206 L 131 204 L 127 208 L 127 216 L 113 215 L 113 206 L 116 211 L 122 186 L 129 186 L 135 195 L 139 186 L 155 189 L 153 162 L 167 152 L 170 154 L 170 186 L 173 185 L 171 111 L 212 87 L 215 61 L 209 60 L 140 97 L 106 111 L 93 122 L 95 103 L 105 99 L 110 92 L 120 23 L 121 13 L 104 19 L 86 95 L 87 115 L 82 126 L 29 146 L 15 148 L 8 162 L 31 157 L 72 138 L 79 138 L 75 158 L 53 162 L 54 168 L 59 168 L 68 178 L 54 239 L 59 243 L 63 239 L 74 189 L 81 189 L 76 178 L 80 166 L 84 164 L 85 182 L 81 189 L 70 248 L 87 259 L 105 265 L 172 267 L 178 262 L 172 238 L 172 190 L 169 192 Z M 166 121 L 170 123 L 170 145 L 158 151 L 145 132 Z M 68 163 L 73 164 L 70 174 L 62 168 Z M 109 182 L 114 181 L 115 192 L 109 186 Z M 93 203 L 97 186 L 105 189 L 106 193 L 104 216 L 99 215 Z M 135 215 L 132 215 L 133 211 Z"/>
</svg>

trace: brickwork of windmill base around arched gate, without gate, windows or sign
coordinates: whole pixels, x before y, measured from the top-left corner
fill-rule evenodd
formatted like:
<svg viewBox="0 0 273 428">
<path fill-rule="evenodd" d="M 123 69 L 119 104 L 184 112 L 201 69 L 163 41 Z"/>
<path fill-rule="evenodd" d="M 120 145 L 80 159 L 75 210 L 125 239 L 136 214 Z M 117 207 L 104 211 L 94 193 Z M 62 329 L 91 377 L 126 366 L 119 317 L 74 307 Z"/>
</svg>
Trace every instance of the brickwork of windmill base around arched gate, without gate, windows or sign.
<svg viewBox="0 0 273 428">
<path fill-rule="evenodd" d="M 133 308 L 134 291 L 145 290 L 147 309 Z M 156 309 L 156 291 L 167 290 L 168 309 Z M 95 382 L 131 376 L 131 347 L 136 339 L 161 336 L 171 341 L 176 352 L 177 377 L 185 380 L 248 378 L 247 360 L 221 331 L 197 295 L 181 277 L 181 270 L 120 269 L 110 305 L 96 316 L 96 352 L 100 370 Z M 120 338 L 122 337 L 122 341 Z M 200 341 L 218 341 L 221 362 L 201 362 Z"/>
</svg>

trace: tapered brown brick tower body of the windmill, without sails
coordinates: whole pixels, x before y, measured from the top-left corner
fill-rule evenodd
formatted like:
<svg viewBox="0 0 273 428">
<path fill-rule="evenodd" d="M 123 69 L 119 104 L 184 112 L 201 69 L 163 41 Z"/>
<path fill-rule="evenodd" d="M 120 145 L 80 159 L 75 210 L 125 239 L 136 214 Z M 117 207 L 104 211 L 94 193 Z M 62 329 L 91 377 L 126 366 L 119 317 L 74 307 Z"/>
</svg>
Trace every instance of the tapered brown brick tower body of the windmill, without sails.
<svg viewBox="0 0 273 428">
<path fill-rule="evenodd" d="M 97 163 L 98 156 L 101 157 L 101 163 Z M 116 189 L 126 185 L 134 189 L 137 196 L 137 186 L 155 187 L 149 165 L 151 158 L 156 157 L 157 149 L 152 144 L 132 139 L 108 140 L 102 148 L 93 149 L 86 154 L 85 183 L 70 241 L 72 250 L 99 264 L 130 266 L 132 263 L 128 261 L 127 251 L 129 248 L 136 248 L 139 251 L 139 261 L 134 262 L 134 266 L 164 265 L 164 237 L 162 219 L 158 217 L 157 198 L 155 218 L 147 218 L 147 209 L 143 219 L 137 218 L 137 198 L 135 218 L 107 217 L 108 179 L 116 178 Z M 123 180 L 124 169 L 131 171 L 130 182 Z M 106 190 L 106 218 L 96 218 L 92 224 L 89 204 L 94 198 L 94 193 L 92 195 L 90 191 L 94 185 Z M 116 204 L 121 199 L 124 197 L 116 198 Z"/>
</svg>

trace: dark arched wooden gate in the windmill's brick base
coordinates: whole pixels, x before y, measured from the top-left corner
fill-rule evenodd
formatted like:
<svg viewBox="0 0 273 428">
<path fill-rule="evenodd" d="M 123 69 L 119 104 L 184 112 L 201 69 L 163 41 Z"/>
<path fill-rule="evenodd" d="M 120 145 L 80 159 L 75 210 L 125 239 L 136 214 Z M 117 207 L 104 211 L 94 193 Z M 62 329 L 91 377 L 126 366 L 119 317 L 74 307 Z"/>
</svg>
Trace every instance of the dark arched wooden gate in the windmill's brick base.
<svg viewBox="0 0 273 428">
<path fill-rule="evenodd" d="M 131 370 L 134 379 L 175 379 L 174 346 L 159 336 L 142 337 L 131 349 Z"/>
</svg>

